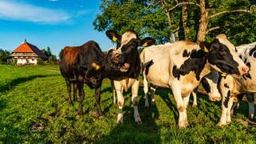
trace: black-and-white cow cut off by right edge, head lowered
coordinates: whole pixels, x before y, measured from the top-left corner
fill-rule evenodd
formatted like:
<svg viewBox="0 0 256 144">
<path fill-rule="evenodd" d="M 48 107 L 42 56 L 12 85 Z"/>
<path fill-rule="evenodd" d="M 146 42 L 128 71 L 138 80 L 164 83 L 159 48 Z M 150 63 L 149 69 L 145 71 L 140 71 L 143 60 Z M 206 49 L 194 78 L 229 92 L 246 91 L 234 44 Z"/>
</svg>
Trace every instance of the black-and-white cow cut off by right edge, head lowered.
<svg viewBox="0 0 256 144">
<path fill-rule="evenodd" d="M 212 90 L 208 93 L 209 95 L 213 95 L 213 91 L 218 91 L 215 95 L 219 95 L 218 97 L 222 96 L 222 116 L 218 122 L 218 126 L 225 126 L 231 122 L 230 115 L 232 110 L 238 105 L 237 98 L 242 99 L 243 95 L 246 95 L 246 99 L 249 102 L 249 118 L 254 119 L 254 96 L 256 95 L 256 66 L 254 63 L 256 62 L 256 42 L 237 46 L 236 48 L 238 50 L 238 56 L 250 68 L 248 74 L 238 76 L 236 74 L 226 75 L 215 72 L 214 76 L 209 74 L 210 77 L 206 77 L 205 81 L 202 81 L 203 86 Z M 211 83 L 213 81 L 215 85 Z"/>
</svg>

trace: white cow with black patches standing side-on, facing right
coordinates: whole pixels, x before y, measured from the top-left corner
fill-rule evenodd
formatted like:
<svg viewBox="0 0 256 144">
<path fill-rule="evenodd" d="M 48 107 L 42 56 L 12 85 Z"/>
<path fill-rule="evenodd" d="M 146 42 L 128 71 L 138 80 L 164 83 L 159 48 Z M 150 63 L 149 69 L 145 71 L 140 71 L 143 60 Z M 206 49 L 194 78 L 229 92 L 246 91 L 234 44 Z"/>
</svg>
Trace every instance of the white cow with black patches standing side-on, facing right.
<svg viewBox="0 0 256 144">
<path fill-rule="evenodd" d="M 213 42 L 167 42 L 148 46 L 140 54 L 144 89 L 148 82 L 172 90 L 178 107 L 178 127 L 189 125 L 186 109 L 190 93 L 211 70 L 225 74 L 246 74 L 248 66 L 242 62 L 225 34 Z"/>
</svg>

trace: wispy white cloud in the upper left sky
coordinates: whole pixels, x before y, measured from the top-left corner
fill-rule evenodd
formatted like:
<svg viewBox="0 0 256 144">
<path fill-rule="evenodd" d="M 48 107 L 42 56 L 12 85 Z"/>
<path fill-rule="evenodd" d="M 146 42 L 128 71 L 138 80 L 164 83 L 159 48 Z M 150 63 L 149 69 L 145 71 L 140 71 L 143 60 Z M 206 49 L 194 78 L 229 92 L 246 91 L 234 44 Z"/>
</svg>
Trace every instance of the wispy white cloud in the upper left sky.
<svg viewBox="0 0 256 144">
<path fill-rule="evenodd" d="M 57 0 L 51 0 L 57 1 Z M 70 19 L 62 10 L 51 10 L 20 2 L 0 1 L 0 18 L 16 21 L 58 23 Z"/>
</svg>

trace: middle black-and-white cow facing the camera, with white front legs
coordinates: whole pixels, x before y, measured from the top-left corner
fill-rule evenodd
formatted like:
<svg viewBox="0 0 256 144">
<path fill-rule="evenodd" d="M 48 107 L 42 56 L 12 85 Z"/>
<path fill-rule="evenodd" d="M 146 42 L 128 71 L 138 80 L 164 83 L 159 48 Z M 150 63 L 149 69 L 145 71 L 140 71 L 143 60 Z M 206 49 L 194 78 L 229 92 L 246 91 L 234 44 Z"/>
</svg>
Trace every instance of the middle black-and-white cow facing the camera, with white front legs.
<svg viewBox="0 0 256 144">
<path fill-rule="evenodd" d="M 108 38 L 117 42 L 117 47 L 110 50 L 110 54 L 114 58 L 119 58 L 120 68 L 122 69 L 121 77 L 113 78 L 113 86 L 118 96 L 118 123 L 123 122 L 122 107 L 125 102 L 122 91 L 127 91 L 131 87 L 132 98 L 131 102 L 134 105 L 134 120 L 136 123 L 142 123 L 138 113 L 138 76 L 140 74 L 140 58 L 138 54 L 138 46 L 150 46 L 154 44 L 154 38 L 146 37 L 143 39 L 138 38 L 138 34 L 134 30 L 126 30 L 122 35 L 119 35 L 114 30 L 107 30 L 106 35 Z"/>
</svg>

